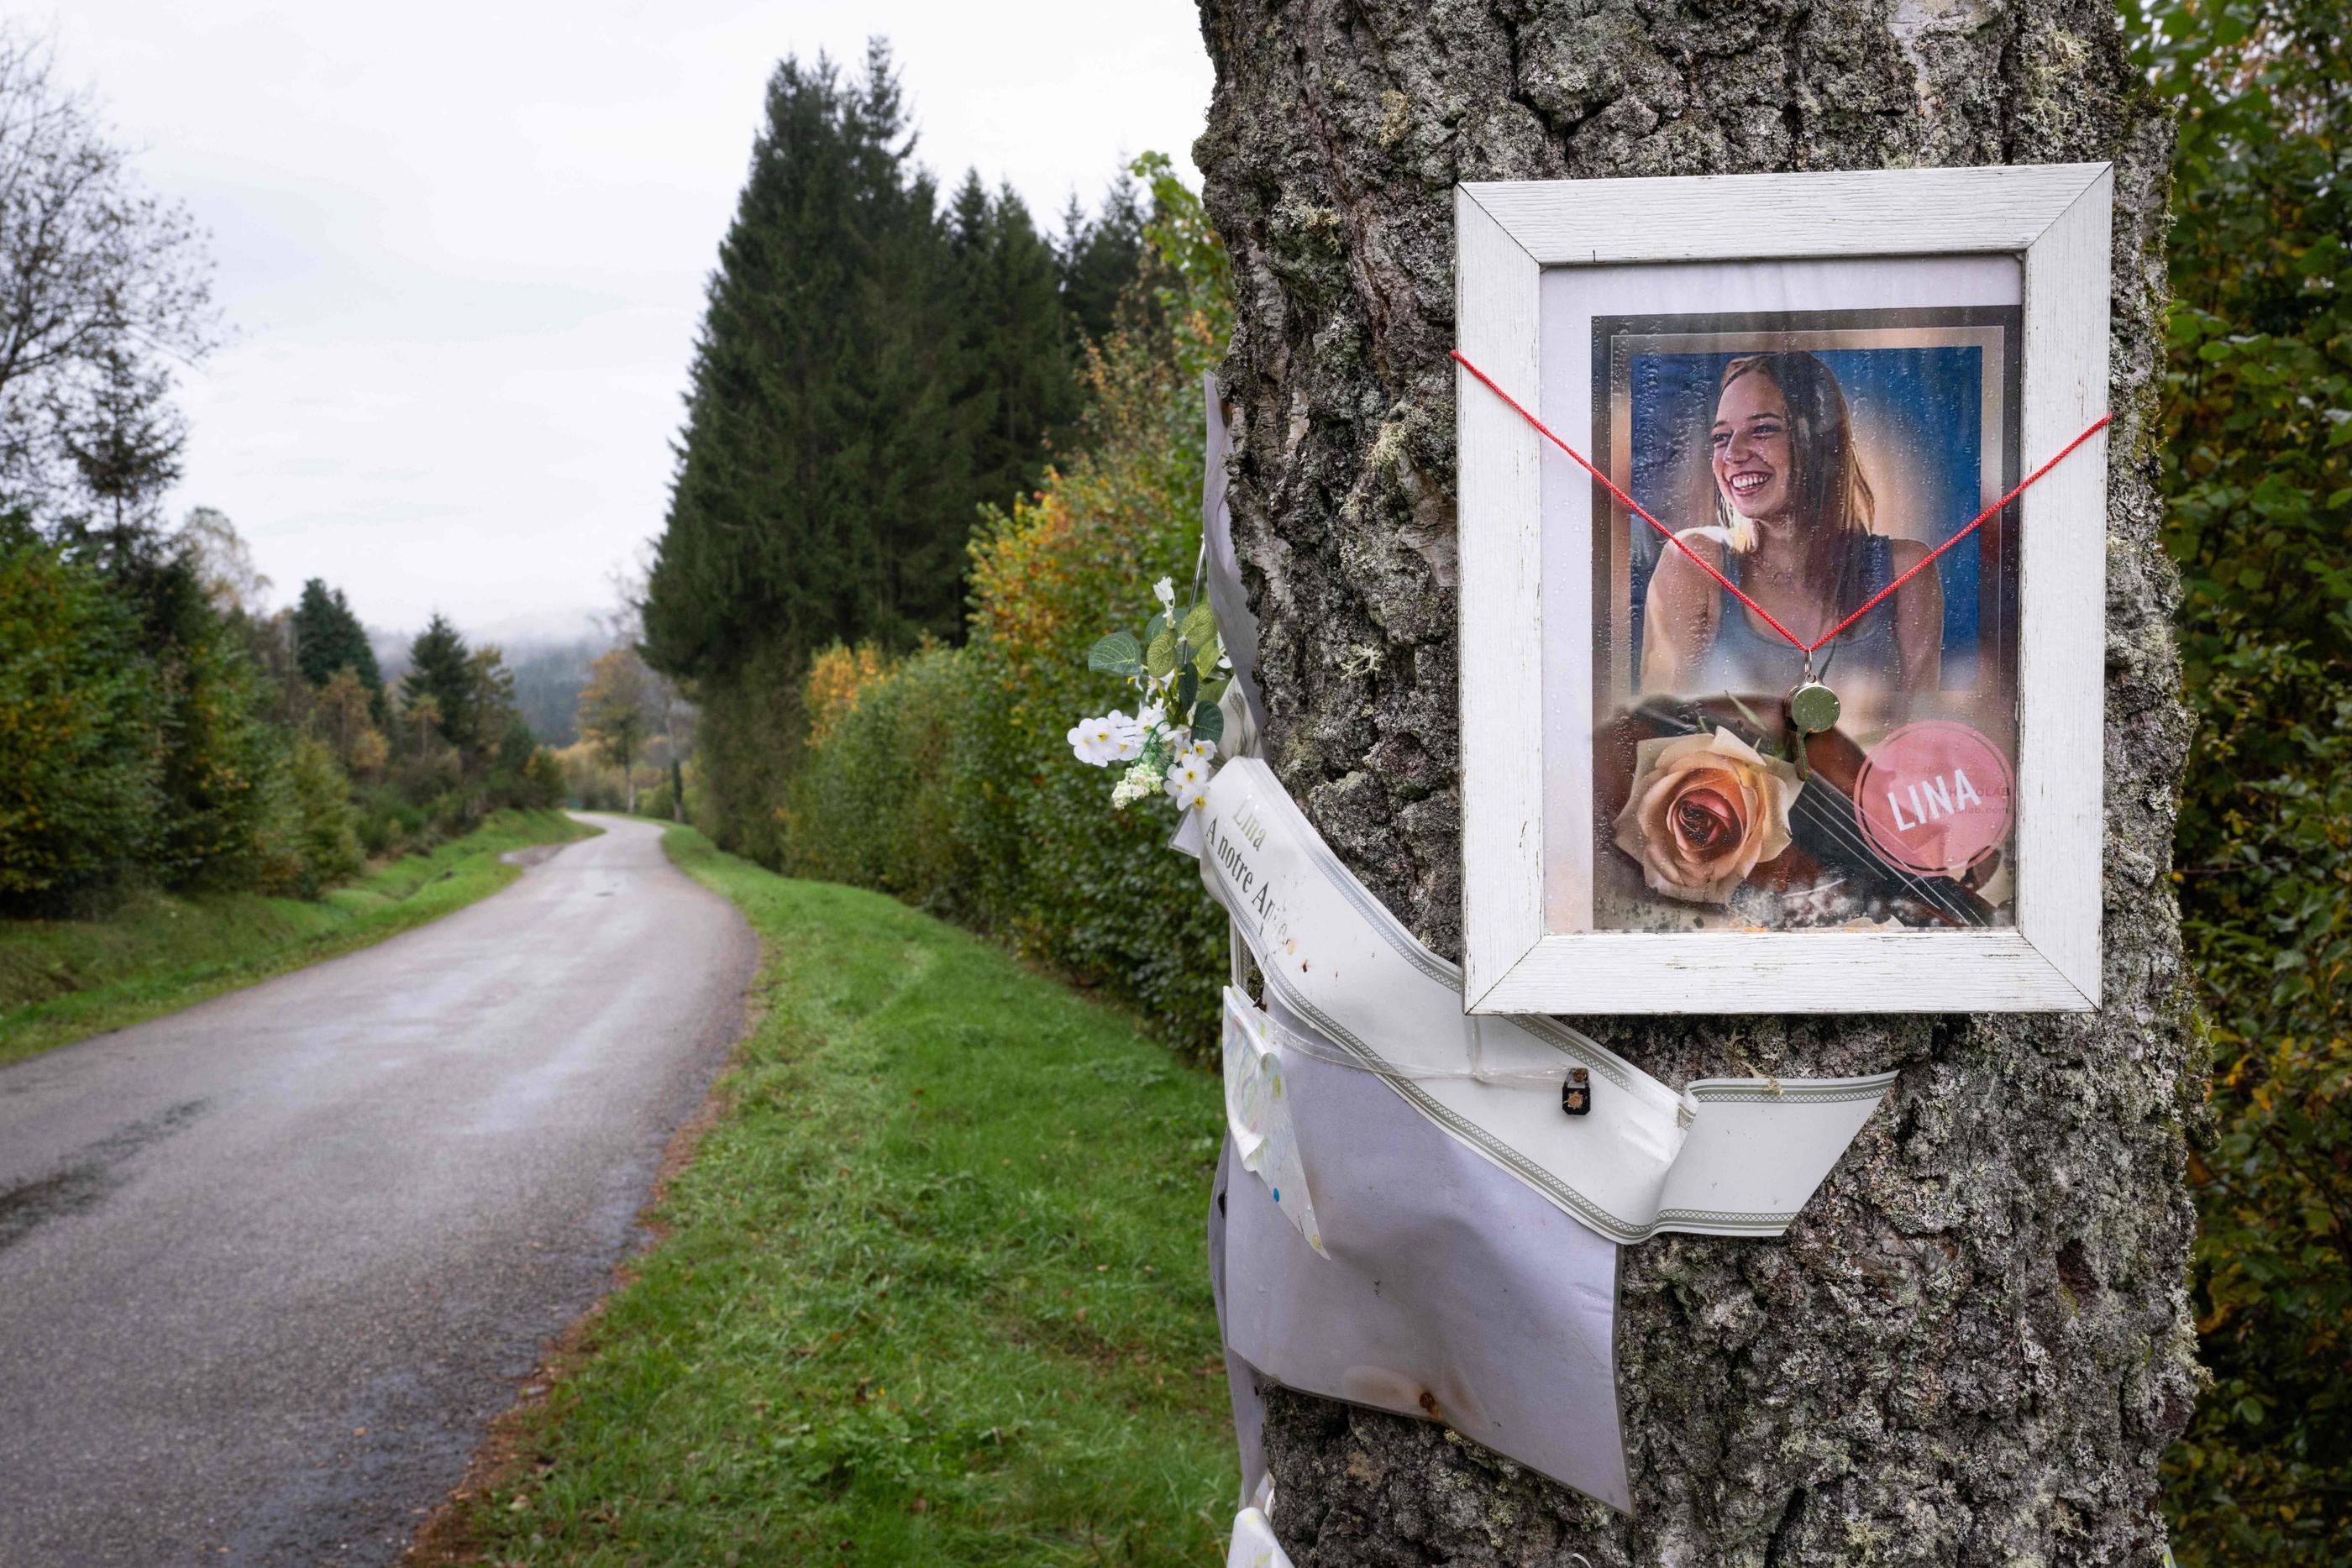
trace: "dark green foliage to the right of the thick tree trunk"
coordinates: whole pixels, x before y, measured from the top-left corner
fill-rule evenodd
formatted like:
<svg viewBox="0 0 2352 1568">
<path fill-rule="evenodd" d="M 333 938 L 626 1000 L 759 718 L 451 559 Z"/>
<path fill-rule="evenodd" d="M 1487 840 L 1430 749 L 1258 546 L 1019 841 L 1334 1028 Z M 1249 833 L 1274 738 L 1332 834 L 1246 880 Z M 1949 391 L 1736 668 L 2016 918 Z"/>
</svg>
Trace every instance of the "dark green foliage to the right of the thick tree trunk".
<svg viewBox="0 0 2352 1568">
<path fill-rule="evenodd" d="M 2211 1119 L 2213 1387 L 2166 1455 L 2183 1568 L 2352 1540 L 2352 186 L 2343 0 L 2124 7 L 2180 103 L 2159 449 L 2199 736 L 2180 914 Z"/>
</svg>

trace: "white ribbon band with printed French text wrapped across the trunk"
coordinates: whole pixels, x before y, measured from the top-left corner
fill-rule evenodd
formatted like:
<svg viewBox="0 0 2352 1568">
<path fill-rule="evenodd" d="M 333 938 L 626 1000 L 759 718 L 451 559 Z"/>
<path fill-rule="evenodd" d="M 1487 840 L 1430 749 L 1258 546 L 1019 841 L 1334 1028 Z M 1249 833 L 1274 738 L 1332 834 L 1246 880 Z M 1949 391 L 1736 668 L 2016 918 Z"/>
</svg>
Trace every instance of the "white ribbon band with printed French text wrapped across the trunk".
<svg viewBox="0 0 2352 1568">
<path fill-rule="evenodd" d="M 1611 1241 L 1778 1237 L 1896 1077 L 1698 1079 L 1675 1093 L 1548 1018 L 1465 1016 L 1461 971 L 1397 924 L 1251 757 L 1209 788 L 1202 879 L 1256 954 L 1268 1001 L 1319 1041 L 1312 1056 L 1357 1063 Z M 1569 1117 L 1545 1084 L 1578 1067 L 1590 1114 Z"/>
</svg>

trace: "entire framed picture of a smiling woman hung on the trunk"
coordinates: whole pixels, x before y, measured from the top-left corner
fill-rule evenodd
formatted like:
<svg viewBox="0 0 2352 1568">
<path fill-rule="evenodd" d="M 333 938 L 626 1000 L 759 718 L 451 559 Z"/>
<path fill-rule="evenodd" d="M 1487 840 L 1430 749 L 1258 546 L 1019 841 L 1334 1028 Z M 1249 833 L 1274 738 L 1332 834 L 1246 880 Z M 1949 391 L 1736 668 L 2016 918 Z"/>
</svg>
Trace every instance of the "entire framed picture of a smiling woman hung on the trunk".
<svg viewBox="0 0 2352 1568">
<path fill-rule="evenodd" d="M 2110 202 L 1456 190 L 1470 1011 L 2098 1006 Z"/>
</svg>

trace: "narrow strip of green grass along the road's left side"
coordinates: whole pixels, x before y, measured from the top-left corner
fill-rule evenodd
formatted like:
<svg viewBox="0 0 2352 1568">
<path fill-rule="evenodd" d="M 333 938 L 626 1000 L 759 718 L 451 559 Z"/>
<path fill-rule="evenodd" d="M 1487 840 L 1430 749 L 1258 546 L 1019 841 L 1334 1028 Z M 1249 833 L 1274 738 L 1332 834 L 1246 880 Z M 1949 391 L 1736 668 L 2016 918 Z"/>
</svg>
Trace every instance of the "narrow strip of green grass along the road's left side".
<svg viewBox="0 0 2352 1568">
<path fill-rule="evenodd" d="M 315 903 L 151 891 L 103 919 L 0 922 L 0 1063 L 381 943 L 520 877 L 499 863 L 508 849 L 593 832 L 562 811 L 501 811 Z"/>
</svg>

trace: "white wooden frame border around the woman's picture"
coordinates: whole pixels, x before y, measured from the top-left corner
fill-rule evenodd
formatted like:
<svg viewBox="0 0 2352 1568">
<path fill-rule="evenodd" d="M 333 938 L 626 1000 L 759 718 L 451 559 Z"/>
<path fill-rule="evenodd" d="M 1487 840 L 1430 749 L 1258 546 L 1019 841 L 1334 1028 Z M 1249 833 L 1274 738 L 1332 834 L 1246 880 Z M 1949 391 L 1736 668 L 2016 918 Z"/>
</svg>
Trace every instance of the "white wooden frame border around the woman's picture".
<svg viewBox="0 0 2352 1568">
<path fill-rule="evenodd" d="M 2013 440 L 2020 473 L 2030 473 L 2107 409 L 2110 209 L 2107 165 L 1465 183 L 1456 188 L 1461 355 L 1576 444 L 1545 404 L 1552 299 L 1573 301 L 1576 289 L 1625 280 L 1628 268 L 1668 277 L 1691 263 L 2006 256 L 2016 261 L 2020 322 Z M 1562 341 L 1573 343 L 1573 334 Z M 1573 884 L 1578 856 L 1597 853 L 1592 811 L 1564 827 L 1548 788 L 1590 799 L 1592 708 L 1576 693 L 1573 670 L 1562 675 L 1548 661 L 1571 658 L 1578 644 L 1590 649 L 1597 595 L 1559 592 L 1557 574 L 1559 559 L 1592 571 L 1595 484 L 1468 369 L 1456 371 L 1456 390 L 1470 1013 L 2098 1006 L 2105 433 L 2009 512 L 2013 924 L 1578 929 L 1562 919 L 1557 886 Z M 1552 562 L 1550 595 L 1548 548 L 1569 552 Z M 1552 717 L 1538 724 L 1538 712 Z M 1578 717 L 1583 785 L 1573 783 L 1573 757 L 1559 771 L 1557 743 L 1562 726 L 1573 736 Z M 1555 733 L 1550 764 L 1545 729 Z"/>
</svg>

